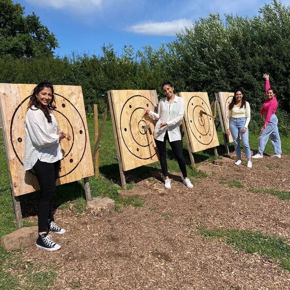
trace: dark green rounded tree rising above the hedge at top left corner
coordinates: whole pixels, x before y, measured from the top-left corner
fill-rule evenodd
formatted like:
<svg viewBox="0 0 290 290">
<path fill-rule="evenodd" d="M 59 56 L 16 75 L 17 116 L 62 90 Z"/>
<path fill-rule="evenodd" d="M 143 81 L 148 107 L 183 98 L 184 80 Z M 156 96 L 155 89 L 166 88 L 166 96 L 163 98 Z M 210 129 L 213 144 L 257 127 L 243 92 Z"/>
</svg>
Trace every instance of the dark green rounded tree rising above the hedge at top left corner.
<svg viewBox="0 0 290 290">
<path fill-rule="evenodd" d="M 59 47 L 53 33 L 40 23 L 34 12 L 24 16 L 24 7 L 12 0 L 0 0 L 0 56 L 53 56 Z"/>
</svg>

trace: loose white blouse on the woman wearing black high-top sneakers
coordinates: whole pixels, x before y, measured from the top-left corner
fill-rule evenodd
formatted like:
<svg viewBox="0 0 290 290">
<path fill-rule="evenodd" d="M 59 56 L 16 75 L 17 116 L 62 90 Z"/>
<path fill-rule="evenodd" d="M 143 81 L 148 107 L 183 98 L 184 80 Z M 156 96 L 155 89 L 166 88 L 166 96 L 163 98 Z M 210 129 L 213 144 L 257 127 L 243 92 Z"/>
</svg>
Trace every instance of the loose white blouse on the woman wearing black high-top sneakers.
<svg viewBox="0 0 290 290">
<path fill-rule="evenodd" d="M 49 111 L 52 123 L 48 123 L 44 112 L 32 106 L 25 120 L 24 170 L 31 169 L 37 159 L 54 163 L 63 159 L 59 127 L 54 115 Z"/>
</svg>

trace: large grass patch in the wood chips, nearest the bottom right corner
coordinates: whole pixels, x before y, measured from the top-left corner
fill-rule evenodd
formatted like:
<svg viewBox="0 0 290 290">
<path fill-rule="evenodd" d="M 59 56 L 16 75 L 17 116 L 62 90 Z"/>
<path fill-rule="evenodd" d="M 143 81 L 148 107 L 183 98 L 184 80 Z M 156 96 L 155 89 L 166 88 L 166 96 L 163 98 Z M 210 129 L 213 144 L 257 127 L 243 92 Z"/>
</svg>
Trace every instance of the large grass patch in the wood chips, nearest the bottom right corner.
<svg viewBox="0 0 290 290">
<path fill-rule="evenodd" d="M 265 256 L 278 263 L 283 269 L 290 270 L 290 245 L 282 238 L 238 229 L 200 229 L 200 235 L 212 239 L 222 239 L 227 244 L 234 245 L 237 250 L 246 253 Z"/>
</svg>

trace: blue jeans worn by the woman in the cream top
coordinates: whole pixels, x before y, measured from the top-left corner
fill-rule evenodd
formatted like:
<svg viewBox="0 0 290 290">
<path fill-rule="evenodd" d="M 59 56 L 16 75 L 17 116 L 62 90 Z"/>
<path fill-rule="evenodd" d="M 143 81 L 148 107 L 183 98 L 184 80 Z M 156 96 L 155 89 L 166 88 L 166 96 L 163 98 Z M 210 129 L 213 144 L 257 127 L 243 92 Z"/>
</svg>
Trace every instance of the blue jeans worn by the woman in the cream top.
<svg viewBox="0 0 290 290">
<path fill-rule="evenodd" d="M 242 129 L 245 127 L 245 123 L 246 123 L 246 118 L 231 118 L 230 124 L 229 124 L 229 130 L 234 140 L 236 155 L 239 159 L 241 158 L 240 135 L 242 137 L 242 142 L 243 142 L 243 147 L 246 154 L 246 158 L 251 158 L 248 128 L 246 129 L 244 133 L 242 133 Z"/>
</svg>

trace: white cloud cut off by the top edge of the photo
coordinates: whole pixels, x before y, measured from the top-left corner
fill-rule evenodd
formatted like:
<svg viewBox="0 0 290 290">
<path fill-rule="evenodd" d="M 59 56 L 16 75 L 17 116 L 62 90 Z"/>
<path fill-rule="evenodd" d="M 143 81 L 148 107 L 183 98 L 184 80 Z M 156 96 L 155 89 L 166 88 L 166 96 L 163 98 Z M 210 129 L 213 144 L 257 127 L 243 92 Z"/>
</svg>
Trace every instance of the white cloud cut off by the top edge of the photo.
<svg viewBox="0 0 290 290">
<path fill-rule="evenodd" d="M 27 0 L 37 6 L 50 6 L 55 9 L 69 9 L 73 11 L 89 11 L 101 8 L 103 0 Z"/>
</svg>

